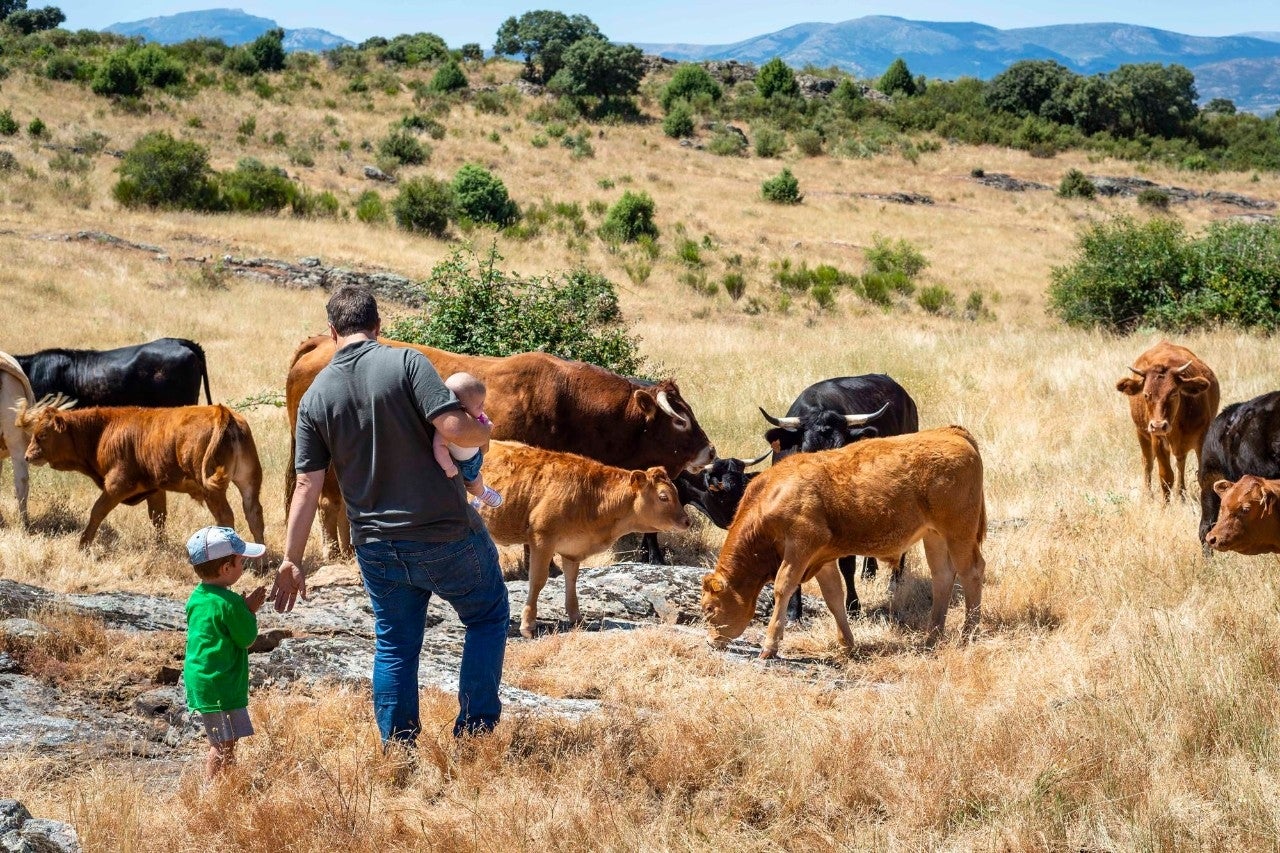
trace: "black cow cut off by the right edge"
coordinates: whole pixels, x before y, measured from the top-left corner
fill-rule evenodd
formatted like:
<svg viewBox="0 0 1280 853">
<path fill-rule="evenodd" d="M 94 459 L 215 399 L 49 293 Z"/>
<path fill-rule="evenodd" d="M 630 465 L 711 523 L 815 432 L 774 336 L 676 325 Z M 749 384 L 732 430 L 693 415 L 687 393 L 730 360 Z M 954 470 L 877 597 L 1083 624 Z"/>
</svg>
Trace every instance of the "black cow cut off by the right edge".
<svg viewBox="0 0 1280 853">
<path fill-rule="evenodd" d="M 1280 391 L 1233 403 L 1208 425 L 1197 476 L 1201 484 L 1201 544 L 1217 521 L 1222 505 L 1213 483 L 1234 483 L 1245 474 L 1268 480 L 1280 478 Z"/>
</svg>

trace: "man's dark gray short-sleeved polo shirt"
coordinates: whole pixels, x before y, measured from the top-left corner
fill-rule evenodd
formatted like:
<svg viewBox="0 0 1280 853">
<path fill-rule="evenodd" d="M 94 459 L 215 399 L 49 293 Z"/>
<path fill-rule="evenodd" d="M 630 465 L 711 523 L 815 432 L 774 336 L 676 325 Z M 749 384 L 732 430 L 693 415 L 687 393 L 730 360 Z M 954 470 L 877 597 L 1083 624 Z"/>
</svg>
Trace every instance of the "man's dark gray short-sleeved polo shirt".
<svg viewBox="0 0 1280 853">
<path fill-rule="evenodd" d="M 462 478 L 447 478 L 436 464 L 430 421 L 461 407 L 421 352 L 348 343 L 302 396 L 294 469 L 333 464 L 352 544 L 456 542 L 483 523 Z"/>
</svg>

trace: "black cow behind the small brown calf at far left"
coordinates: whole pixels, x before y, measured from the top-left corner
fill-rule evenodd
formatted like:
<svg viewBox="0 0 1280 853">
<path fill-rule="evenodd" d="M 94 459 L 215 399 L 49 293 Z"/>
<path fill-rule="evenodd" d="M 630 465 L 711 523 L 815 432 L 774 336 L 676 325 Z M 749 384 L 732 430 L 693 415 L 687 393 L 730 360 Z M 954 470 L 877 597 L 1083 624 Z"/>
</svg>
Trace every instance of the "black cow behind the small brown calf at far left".
<svg viewBox="0 0 1280 853">
<path fill-rule="evenodd" d="M 193 406 L 209 393 L 205 351 L 195 341 L 160 338 L 119 350 L 41 350 L 14 356 L 36 400 L 61 393 L 88 406 Z"/>
</svg>

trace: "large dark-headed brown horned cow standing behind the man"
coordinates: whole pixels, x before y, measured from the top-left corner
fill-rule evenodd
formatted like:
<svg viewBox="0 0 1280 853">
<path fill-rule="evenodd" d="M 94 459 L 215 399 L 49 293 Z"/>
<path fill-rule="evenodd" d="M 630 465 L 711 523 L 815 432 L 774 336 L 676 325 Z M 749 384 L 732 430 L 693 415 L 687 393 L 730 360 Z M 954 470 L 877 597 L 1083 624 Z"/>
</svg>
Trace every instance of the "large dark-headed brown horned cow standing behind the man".
<svg viewBox="0 0 1280 853">
<path fill-rule="evenodd" d="M 716 459 L 716 448 L 698 425 L 675 382 L 644 383 L 582 361 L 566 361 L 545 352 L 494 359 L 467 356 L 379 338 L 393 347 L 412 347 L 435 365 L 440 377 L 466 371 L 488 386 L 485 410 L 493 437 L 535 447 L 579 453 L 626 469 L 658 466 L 676 476 Z M 289 467 L 284 505 L 293 497 L 293 429 L 298 403 L 316 374 L 333 359 L 334 342 L 320 334 L 293 352 L 284 386 L 289 415 Z M 488 475 L 486 475 L 488 476 Z M 342 494 L 332 471 L 320 498 L 320 526 L 325 551 L 337 540 L 351 549 L 347 524 L 339 524 Z"/>
</svg>

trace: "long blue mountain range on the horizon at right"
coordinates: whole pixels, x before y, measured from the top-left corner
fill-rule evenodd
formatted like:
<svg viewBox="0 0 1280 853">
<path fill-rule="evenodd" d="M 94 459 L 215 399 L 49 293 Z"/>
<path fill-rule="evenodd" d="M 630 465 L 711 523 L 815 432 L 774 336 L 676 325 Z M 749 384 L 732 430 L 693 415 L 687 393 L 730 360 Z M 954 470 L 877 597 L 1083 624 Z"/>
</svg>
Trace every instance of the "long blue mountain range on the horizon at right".
<svg viewBox="0 0 1280 853">
<path fill-rule="evenodd" d="M 1196 73 L 1201 97 L 1231 97 L 1242 109 L 1280 106 L 1280 33 L 1187 36 L 1120 23 L 997 29 L 979 23 L 869 15 L 842 23 L 803 23 L 731 45 L 637 45 L 671 59 L 737 59 L 836 67 L 881 74 L 901 56 L 916 74 L 989 78 L 1019 59 L 1053 59 L 1082 74 L 1126 63 L 1178 63 Z"/>
</svg>

